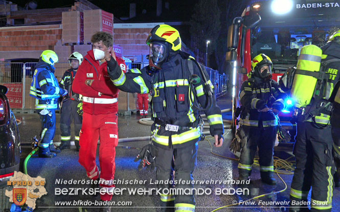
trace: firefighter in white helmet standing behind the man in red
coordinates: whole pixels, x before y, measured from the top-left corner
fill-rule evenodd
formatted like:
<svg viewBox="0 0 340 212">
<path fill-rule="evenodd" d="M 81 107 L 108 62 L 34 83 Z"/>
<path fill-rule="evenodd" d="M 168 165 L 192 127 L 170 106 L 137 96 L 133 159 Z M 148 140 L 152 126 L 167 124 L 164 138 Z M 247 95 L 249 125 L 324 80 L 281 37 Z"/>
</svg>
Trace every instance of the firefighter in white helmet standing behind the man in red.
<svg viewBox="0 0 340 212">
<path fill-rule="evenodd" d="M 78 105 L 82 104 L 81 95 L 72 91 L 73 79 L 77 74 L 79 65 L 83 62 L 83 56 L 74 52 L 69 57 L 71 68 L 66 70 L 59 83 L 60 87 L 69 91 L 69 93 L 62 99 L 60 109 L 60 150 L 70 149 L 71 143 L 71 123 L 74 120 L 75 130 L 75 145 L 76 150 L 79 151 L 79 132 L 81 130 L 82 116 L 77 112 Z"/>
</svg>

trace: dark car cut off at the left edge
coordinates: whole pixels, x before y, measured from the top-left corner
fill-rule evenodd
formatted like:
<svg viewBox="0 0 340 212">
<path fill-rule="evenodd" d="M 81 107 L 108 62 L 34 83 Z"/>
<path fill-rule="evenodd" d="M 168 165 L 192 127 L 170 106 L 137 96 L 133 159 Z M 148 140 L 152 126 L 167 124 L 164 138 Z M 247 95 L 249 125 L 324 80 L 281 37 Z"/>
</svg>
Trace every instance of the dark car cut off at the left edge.
<svg viewBox="0 0 340 212">
<path fill-rule="evenodd" d="M 0 185 L 19 171 L 21 153 L 18 125 L 6 92 L 7 87 L 0 85 Z"/>
</svg>

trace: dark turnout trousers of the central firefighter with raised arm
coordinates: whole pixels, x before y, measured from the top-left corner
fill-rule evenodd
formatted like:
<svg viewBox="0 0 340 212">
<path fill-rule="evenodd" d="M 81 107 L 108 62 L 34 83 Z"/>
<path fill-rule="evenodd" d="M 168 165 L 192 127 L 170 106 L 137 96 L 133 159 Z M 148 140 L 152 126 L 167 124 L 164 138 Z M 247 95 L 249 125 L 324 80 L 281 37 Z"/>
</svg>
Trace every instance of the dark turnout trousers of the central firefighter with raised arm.
<svg viewBox="0 0 340 212">
<path fill-rule="evenodd" d="M 183 148 L 168 148 L 157 147 L 155 166 L 157 180 L 175 180 L 176 189 L 193 189 L 192 184 L 193 172 L 197 162 L 197 149 L 198 143 Z M 173 184 L 158 184 L 159 189 L 170 189 Z M 177 195 L 162 194 L 161 206 L 162 207 L 175 207 L 163 208 L 165 211 L 194 211 L 195 210 L 194 195 Z"/>
</svg>

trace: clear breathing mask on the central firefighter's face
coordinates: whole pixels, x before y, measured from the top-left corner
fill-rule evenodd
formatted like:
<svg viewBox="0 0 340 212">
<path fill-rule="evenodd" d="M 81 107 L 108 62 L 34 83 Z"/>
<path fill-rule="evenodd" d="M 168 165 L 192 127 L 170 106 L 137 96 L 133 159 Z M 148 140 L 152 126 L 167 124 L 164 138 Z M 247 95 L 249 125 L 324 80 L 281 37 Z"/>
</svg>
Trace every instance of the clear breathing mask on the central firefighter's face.
<svg viewBox="0 0 340 212">
<path fill-rule="evenodd" d="M 169 55 L 169 48 L 163 42 L 151 42 L 149 52 L 149 67 L 155 72 L 157 69 L 162 68 L 162 64 L 167 61 Z"/>
</svg>

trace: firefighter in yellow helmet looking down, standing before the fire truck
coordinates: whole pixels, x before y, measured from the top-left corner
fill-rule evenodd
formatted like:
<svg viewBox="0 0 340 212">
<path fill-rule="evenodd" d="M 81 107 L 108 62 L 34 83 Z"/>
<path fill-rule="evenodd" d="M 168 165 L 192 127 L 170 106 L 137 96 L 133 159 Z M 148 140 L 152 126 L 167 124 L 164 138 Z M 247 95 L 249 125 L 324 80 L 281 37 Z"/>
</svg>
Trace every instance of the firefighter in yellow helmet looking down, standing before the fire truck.
<svg viewBox="0 0 340 212">
<path fill-rule="evenodd" d="M 272 66 L 268 56 L 259 54 L 252 61 L 250 78 L 241 86 L 240 128 L 246 135 L 246 142 L 242 144 L 238 163 L 239 179 L 247 180 L 259 147 L 261 180 L 271 185 L 276 184 L 273 155 L 278 132 L 277 114 L 284 108 L 286 98 L 278 83 L 271 79 Z"/>
</svg>

